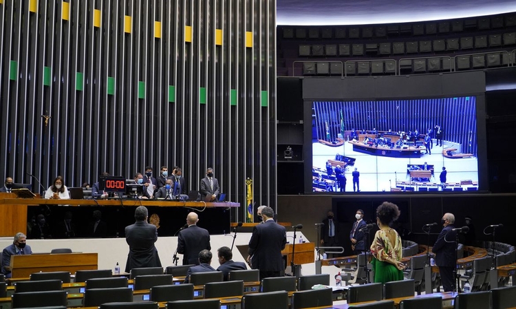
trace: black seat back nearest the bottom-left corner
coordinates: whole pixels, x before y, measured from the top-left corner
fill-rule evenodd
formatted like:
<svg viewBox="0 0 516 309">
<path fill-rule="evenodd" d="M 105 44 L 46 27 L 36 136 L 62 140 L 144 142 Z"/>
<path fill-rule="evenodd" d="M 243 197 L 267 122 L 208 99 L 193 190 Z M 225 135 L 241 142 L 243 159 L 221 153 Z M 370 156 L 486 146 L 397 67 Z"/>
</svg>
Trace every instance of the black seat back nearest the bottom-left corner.
<svg viewBox="0 0 516 309">
<path fill-rule="evenodd" d="M 14 293 L 11 298 L 12 308 L 31 308 L 42 306 L 67 306 L 67 292 L 43 291 Z"/>
</svg>

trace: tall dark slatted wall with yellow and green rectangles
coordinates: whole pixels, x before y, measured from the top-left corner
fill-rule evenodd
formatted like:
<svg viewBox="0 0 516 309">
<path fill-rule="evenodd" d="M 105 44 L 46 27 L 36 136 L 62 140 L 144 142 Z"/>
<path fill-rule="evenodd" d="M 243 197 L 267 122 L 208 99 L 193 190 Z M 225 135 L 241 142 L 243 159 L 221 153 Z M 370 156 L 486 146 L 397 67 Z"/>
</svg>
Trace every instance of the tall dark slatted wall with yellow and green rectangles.
<svg viewBox="0 0 516 309">
<path fill-rule="evenodd" d="M 1 0 L 0 175 L 207 167 L 275 206 L 275 0 Z M 48 122 L 45 123 L 45 117 Z M 244 214 L 242 207 L 240 215 Z"/>
</svg>

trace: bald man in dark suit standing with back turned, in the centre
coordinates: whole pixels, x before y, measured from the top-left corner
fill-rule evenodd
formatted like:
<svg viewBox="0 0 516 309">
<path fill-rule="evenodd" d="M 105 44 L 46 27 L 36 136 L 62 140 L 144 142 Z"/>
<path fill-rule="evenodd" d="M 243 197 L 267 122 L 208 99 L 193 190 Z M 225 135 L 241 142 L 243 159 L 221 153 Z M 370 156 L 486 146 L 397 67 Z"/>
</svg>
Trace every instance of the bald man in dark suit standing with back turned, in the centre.
<svg viewBox="0 0 516 309">
<path fill-rule="evenodd" d="M 188 228 L 184 228 L 178 235 L 178 253 L 183 255 L 183 265 L 199 265 L 199 253 L 202 250 L 211 250 L 210 233 L 197 226 L 197 213 L 186 216 Z"/>
</svg>

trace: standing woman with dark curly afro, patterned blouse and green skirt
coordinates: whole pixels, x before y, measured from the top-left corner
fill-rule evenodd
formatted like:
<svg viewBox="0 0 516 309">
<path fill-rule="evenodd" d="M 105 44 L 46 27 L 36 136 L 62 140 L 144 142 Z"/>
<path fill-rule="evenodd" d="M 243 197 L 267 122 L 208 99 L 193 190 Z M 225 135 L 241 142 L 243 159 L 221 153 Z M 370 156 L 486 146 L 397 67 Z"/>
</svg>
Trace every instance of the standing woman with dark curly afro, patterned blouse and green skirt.
<svg viewBox="0 0 516 309">
<path fill-rule="evenodd" d="M 402 270 L 405 264 L 401 262 L 401 238 L 394 228 L 390 228 L 390 224 L 399 216 L 398 206 L 391 202 L 383 202 L 376 209 L 376 223 L 380 230 L 376 231 L 371 244 L 374 282 L 385 284 L 389 281 L 403 280 Z"/>
</svg>

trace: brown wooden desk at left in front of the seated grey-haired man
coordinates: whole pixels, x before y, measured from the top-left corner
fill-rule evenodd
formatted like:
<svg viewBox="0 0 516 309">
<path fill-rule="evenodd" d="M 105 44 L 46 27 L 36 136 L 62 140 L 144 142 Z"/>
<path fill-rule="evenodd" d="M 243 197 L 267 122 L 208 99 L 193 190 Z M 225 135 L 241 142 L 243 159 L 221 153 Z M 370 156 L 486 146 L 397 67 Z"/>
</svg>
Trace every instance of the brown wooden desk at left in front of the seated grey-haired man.
<svg viewBox="0 0 516 309">
<path fill-rule="evenodd" d="M 98 253 L 62 253 L 11 255 L 12 277 L 30 277 L 32 273 L 98 269 Z"/>
</svg>

